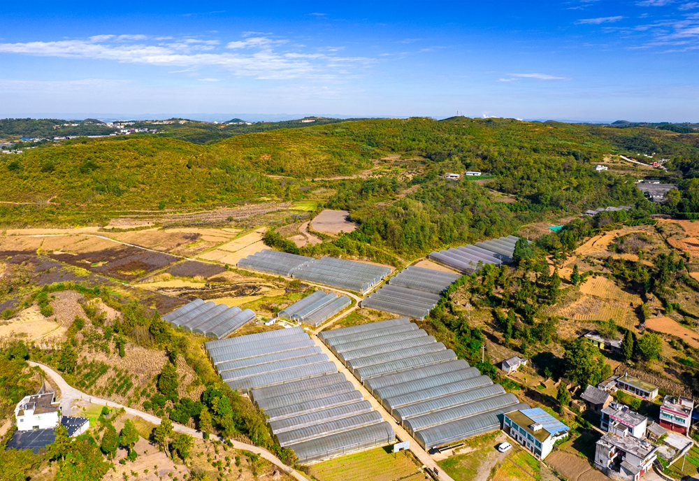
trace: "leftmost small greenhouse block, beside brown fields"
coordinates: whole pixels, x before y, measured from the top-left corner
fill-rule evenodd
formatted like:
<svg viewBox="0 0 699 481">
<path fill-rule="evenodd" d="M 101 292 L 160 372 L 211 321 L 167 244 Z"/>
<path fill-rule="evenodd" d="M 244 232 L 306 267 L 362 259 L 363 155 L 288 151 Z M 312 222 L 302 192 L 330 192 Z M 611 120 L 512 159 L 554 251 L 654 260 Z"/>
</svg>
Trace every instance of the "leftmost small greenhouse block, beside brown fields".
<svg viewBox="0 0 699 481">
<path fill-rule="evenodd" d="M 225 304 L 195 299 L 164 315 L 163 319 L 187 332 L 202 334 L 212 339 L 223 339 L 254 320 L 255 313 L 250 309 L 229 308 Z"/>
</svg>

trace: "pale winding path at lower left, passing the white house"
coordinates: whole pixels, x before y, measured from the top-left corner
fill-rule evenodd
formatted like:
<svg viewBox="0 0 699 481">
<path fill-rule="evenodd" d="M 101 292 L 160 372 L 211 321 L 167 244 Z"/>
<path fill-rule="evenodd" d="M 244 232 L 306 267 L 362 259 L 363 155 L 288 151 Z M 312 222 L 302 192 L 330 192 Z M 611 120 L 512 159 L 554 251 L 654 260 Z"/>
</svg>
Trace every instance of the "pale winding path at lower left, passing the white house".
<svg viewBox="0 0 699 481">
<path fill-rule="evenodd" d="M 147 412 L 139 411 L 133 408 L 127 408 L 124 405 L 121 405 L 119 403 L 115 403 L 113 401 L 108 401 L 106 399 L 100 399 L 94 396 L 90 396 L 89 394 L 86 394 L 82 391 L 79 391 L 78 389 L 75 389 L 71 385 L 69 385 L 62 376 L 54 371 L 52 368 L 48 366 L 44 366 L 43 364 L 38 364 L 36 362 L 28 361 L 29 366 L 38 366 L 40 367 L 53 382 L 61 389 L 61 410 L 62 412 L 70 412 L 70 405 L 73 401 L 78 400 L 78 399 L 84 399 L 85 401 L 89 401 L 92 404 L 98 404 L 98 405 L 108 405 L 113 408 L 123 408 L 129 415 L 140 417 L 141 419 L 145 419 L 147 422 L 150 422 L 152 424 L 160 424 L 160 418 L 154 415 L 150 415 Z M 67 404 L 66 404 L 67 403 Z M 64 408 L 64 405 L 66 406 Z M 182 426 L 181 424 L 175 424 L 173 423 L 173 429 L 177 431 L 178 433 L 185 433 L 189 434 L 189 436 L 193 436 L 195 438 L 202 438 L 203 439 L 203 433 L 201 431 L 196 431 L 196 429 L 188 428 L 187 426 Z M 259 454 L 261 457 L 266 459 L 267 461 L 270 461 L 272 464 L 275 466 L 278 466 L 281 468 L 284 473 L 289 473 L 289 475 L 294 476 L 298 481 L 308 481 L 307 478 L 305 478 L 301 473 L 298 473 L 298 471 L 294 470 L 293 468 L 290 468 L 286 464 L 282 463 L 282 461 L 276 457 L 274 454 L 271 452 L 262 449 L 261 447 L 245 444 L 245 443 L 239 443 L 238 441 L 233 441 L 233 447 L 236 450 L 246 450 L 250 452 L 254 452 L 255 454 Z"/>
</svg>

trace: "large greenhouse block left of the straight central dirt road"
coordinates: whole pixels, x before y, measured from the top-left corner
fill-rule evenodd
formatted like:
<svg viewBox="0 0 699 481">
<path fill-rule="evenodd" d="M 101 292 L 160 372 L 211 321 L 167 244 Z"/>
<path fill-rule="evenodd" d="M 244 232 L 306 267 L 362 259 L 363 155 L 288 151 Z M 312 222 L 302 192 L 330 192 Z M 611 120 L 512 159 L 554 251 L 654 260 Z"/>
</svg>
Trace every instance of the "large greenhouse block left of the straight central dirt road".
<svg viewBox="0 0 699 481">
<path fill-rule="evenodd" d="M 391 424 L 300 327 L 216 340 L 205 347 L 222 380 L 264 410 L 275 439 L 301 463 L 396 438 Z"/>
</svg>

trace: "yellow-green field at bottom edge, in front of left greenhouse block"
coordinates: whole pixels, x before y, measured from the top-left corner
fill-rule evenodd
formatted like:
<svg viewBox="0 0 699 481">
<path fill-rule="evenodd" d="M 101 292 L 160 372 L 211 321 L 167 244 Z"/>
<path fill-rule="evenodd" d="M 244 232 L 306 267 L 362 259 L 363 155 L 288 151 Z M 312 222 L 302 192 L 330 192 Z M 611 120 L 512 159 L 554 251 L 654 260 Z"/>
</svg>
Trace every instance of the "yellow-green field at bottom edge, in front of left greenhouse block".
<svg viewBox="0 0 699 481">
<path fill-rule="evenodd" d="M 310 475 L 318 481 L 417 481 L 423 480 L 412 453 L 394 454 L 391 447 L 347 454 L 310 466 Z"/>
</svg>

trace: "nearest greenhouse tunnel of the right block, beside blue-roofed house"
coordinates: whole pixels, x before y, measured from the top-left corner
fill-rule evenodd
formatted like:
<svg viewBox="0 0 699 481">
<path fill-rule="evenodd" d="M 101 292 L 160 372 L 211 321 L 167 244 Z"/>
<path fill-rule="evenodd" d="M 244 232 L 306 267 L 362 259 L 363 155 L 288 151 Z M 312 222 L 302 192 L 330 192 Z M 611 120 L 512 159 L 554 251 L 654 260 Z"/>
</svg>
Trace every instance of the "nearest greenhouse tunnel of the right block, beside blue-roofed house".
<svg viewBox="0 0 699 481">
<path fill-rule="evenodd" d="M 432 447 L 438 447 L 455 441 L 460 441 L 478 434 L 496 431 L 503 426 L 503 412 L 512 410 L 521 410 L 528 408 L 528 404 L 512 405 L 504 410 L 499 409 L 490 412 L 484 412 L 479 415 L 466 417 L 457 421 L 447 422 L 438 426 L 423 429 L 415 433 L 415 440 L 424 449 L 429 450 Z"/>
</svg>

